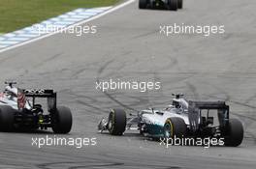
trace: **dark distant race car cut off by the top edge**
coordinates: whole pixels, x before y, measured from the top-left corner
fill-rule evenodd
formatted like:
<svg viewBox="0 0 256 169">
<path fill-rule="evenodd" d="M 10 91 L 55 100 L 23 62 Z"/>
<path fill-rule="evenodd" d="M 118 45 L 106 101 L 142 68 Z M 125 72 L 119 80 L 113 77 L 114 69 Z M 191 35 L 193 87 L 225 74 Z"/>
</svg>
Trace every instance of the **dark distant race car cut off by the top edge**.
<svg viewBox="0 0 256 169">
<path fill-rule="evenodd" d="M 168 9 L 176 11 L 183 8 L 183 0 L 139 0 L 140 9 Z"/>
</svg>

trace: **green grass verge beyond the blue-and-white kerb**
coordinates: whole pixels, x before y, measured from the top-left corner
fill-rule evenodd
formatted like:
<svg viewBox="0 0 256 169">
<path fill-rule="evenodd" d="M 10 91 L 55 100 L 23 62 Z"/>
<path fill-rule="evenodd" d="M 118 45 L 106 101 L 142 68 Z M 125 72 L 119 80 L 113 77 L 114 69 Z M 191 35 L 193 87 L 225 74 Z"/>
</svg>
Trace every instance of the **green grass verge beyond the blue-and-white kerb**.
<svg viewBox="0 0 256 169">
<path fill-rule="evenodd" d="M 119 0 L 0 0 L 0 33 L 13 32 L 78 8 L 106 7 Z"/>
</svg>

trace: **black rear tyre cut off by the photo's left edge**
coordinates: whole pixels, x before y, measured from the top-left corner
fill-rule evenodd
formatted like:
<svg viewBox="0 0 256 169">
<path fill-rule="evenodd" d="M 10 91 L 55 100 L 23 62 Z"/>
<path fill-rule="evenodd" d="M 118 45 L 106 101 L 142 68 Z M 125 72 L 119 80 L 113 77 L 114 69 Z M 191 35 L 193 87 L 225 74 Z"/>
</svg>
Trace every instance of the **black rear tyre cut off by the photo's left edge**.
<svg viewBox="0 0 256 169">
<path fill-rule="evenodd" d="M 0 131 L 12 131 L 14 129 L 16 110 L 8 105 L 0 105 Z"/>
</svg>

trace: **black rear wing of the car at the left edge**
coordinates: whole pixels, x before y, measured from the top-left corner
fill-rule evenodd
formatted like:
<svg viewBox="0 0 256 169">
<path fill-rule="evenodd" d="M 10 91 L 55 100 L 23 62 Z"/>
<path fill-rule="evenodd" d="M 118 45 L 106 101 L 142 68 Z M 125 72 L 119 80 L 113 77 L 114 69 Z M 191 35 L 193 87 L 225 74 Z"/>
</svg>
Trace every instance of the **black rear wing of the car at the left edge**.
<svg viewBox="0 0 256 169">
<path fill-rule="evenodd" d="M 46 98 L 48 99 L 48 112 L 55 111 L 57 106 L 57 93 L 53 90 L 22 90 L 23 94 L 27 98 L 32 98 L 33 106 L 35 105 L 36 98 Z"/>
</svg>

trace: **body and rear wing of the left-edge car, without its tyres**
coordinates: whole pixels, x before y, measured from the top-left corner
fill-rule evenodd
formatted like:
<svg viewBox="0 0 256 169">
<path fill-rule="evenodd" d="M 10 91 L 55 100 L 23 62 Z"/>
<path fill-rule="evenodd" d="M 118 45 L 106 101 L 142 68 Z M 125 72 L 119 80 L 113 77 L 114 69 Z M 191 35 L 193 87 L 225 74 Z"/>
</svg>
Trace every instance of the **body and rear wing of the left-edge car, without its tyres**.
<svg viewBox="0 0 256 169">
<path fill-rule="evenodd" d="M 2 116 L 10 114 L 10 123 L 16 129 L 47 129 L 54 124 L 56 112 L 56 93 L 53 90 L 27 90 L 13 86 L 15 82 L 9 82 L 3 93 L 0 94 L 0 111 Z M 36 99 L 47 99 L 48 110 L 43 109 L 42 104 L 36 103 Z M 8 112 L 6 112 L 6 108 Z M 9 107 L 9 108 L 8 108 Z M 5 112 L 3 112 L 5 110 Z M 5 114 L 5 115 L 4 115 Z M 1 122 L 4 121 L 1 117 Z"/>
</svg>

